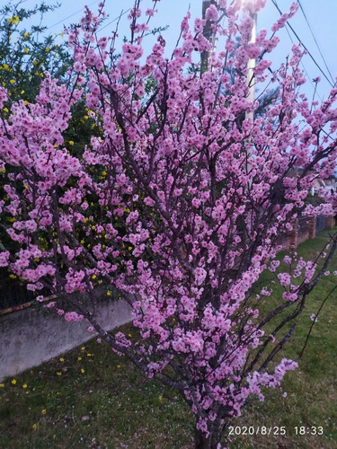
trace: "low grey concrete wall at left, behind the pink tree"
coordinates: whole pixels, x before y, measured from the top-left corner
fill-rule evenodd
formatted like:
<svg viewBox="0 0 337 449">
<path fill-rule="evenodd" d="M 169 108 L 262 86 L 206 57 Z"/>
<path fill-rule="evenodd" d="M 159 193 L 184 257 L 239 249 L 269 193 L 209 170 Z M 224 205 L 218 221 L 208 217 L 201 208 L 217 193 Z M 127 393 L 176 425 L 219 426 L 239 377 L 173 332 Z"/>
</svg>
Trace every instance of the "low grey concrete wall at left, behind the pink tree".
<svg viewBox="0 0 337 449">
<path fill-rule="evenodd" d="M 97 316 L 111 330 L 131 320 L 131 307 L 125 301 L 100 304 Z M 0 317 L 0 382 L 92 339 L 89 325 L 32 307 Z"/>
</svg>

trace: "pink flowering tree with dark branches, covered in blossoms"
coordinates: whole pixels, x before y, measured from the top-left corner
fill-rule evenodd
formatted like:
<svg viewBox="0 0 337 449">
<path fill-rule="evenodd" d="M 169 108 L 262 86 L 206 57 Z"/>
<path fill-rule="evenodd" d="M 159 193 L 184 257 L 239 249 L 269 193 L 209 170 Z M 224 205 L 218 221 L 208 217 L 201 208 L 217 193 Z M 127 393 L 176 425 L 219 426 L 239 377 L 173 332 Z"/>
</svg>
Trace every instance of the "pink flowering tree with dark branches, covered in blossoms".
<svg viewBox="0 0 337 449">
<path fill-rule="evenodd" d="M 276 275 L 276 254 L 297 216 L 335 211 L 333 193 L 320 192 L 318 207 L 306 198 L 317 173 L 334 170 L 337 89 L 322 105 L 299 93 L 306 79 L 296 46 L 270 70 L 266 56 L 295 6 L 250 43 L 253 20 L 241 2 L 218 0 L 205 20 L 184 18 L 167 58 L 162 38 L 144 54 L 154 10 L 143 20 L 138 4 L 121 52 L 116 36 L 96 38 L 102 5 L 98 16 L 87 11 L 69 31 L 69 83 L 46 74 L 35 101 L 13 102 L 10 115 L 2 114 L 0 211 L 13 217 L 5 227 L 16 250 L 3 242 L 0 266 L 38 300 L 41 292 L 58 295 L 67 304 L 58 313 L 89 321 L 114 351 L 177 389 L 195 414 L 196 447 L 216 448 L 246 402 L 263 401 L 297 367 L 280 351 L 337 241 L 321 269 L 289 253 L 288 269 Z M 203 35 L 206 20 L 218 51 Z M 236 37 L 241 46 L 233 53 Z M 208 70 L 200 75 L 204 51 Z M 257 64 L 248 84 L 279 88 L 255 120 L 250 58 Z M 0 108 L 8 100 L 1 88 Z M 94 136 L 74 154 L 64 134 L 78 101 Z M 264 272 L 284 290 L 273 307 Z M 137 343 L 95 317 L 93 298 L 112 290 L 133 308 Z"/>
</svg>

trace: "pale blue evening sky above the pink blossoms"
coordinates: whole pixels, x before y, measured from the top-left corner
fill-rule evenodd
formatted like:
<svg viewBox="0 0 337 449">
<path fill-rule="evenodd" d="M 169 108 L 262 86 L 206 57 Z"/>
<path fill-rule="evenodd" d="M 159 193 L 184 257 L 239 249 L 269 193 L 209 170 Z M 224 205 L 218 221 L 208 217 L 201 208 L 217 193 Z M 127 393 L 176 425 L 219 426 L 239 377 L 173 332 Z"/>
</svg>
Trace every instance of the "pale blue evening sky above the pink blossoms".
<svg viewBox="0 0 337 449">
<path fill-rule="evenodd" d="M 53 13 L 47 13 L 44 17 L 43 25 L 48 27 L 50 33 L 61 33 L 63 25 L 69 25 L 72 22 L 78 22 L 82 17 L 84 5 L 87 4 L 93 12 L 97 11 L 101 0 L 58 0 L 60 7 Z M 292 0 L 275 0 L 282 12 L 288 10 Z M 20 0 L 12 0 L 17 4 Z M 45 4 L 56 4 L 57 0 L 44 0 Z M 7 0 L 0 0 L 0 4 L 7 4 Z M 33 7 L 39 3 L 39 0 L 22 0 L 21 6 L 25 9 Z M 109 35 L 115 29 L 117 19 L 123 11 L 124 15 L 120 21 L 120 34 L 128 34 L 127 11 L 134 4 L 133 0 L 105 0 L 105 11 L 109 14 L 105 22 L 105 28 L 102 35 Z M 303 61 L 303 67 L 306 71 L 307 85 L 306 93 L 314 92 L 312 80 L 320 76 L 322 81 L 318 85 L 318 100 L 326 99 L 333 80 L 337 75 L 337 1 L 336 0 L 300 0 L 303 11 L 298 10 L 297 15 L 291 20 L 290 24 L 297 33 L 294 36 L 292 31 L 286 30 L 280 32 L 281 44 L 273 52 L 273 67 L 277 68 L 289 54 L 292 42 L 297 43 L 298 39 L 309 49 L 310 55 L 306 55 Z M 141 8 L 146 10 L 152 7 L 152 0 L 142 0 Z M 200 16 L 202 0 L 161 0 L 157 6 L 158 13 L 152 20 L 151 28 L 169 25 L 167 31 L 164 31 L 164 39 L 167 48 L 172 51 L 180 31 L 182 17 L 191 8 L 192 17 Z M 262 28 L 270 29 L 273 22 L 279 18 L 279 12 L 272 0 L 267 0 L 265 8 L 258 14 L 258 30 Z M 307 22 L 306 22 L 307 20 Z M 311 30 L 310 30 L 310 28 Z M 313 61 L 315 60 L 315 62 Z M 324 74 L 320 71 L 322 68 Z M 329 74 L 330 72 L 330 74 Z M 329 78 L 329 82 L 325 76 Z"/>
</svg>

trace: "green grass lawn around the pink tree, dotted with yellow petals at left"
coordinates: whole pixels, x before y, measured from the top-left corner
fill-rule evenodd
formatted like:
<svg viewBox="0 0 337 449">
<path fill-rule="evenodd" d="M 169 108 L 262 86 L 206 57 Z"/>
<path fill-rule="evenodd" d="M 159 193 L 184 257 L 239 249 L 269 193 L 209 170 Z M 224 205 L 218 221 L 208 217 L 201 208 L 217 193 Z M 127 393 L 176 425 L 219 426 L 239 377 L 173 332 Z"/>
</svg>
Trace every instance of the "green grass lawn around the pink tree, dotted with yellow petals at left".
<svg viewBox="0 0 337 449">
<path fill-rule="evenodd" d="M 321 233 L 315 241 L 300 245 L 298 252 L 315 254 L 326 236 L 327 232 Z M 283 357 L 299 356 L 310 315 L 317 312 L 333 282 L 333 275 L 324 277 L 310 296 Z M 287 397 L 280 391 L 268 392 L 265 402 L 252 403 L 234 422 L 236 433 L 243 433 L 244 427 L 256 433 L 257 427 L 264 426 L 270 435 L 235 436 L 233 449 L 337 447 L 336 296 L 329 298 L 315 323 L 298 370 L 286 375 Z M 132 333 L 130 327 L 124 331 Z M 190 449 L 193 423 L 177 392 L 146 379 L 95 339 L 6 379 L 0 387 L 0 447 L 4 449 Z M 296 436 L 296 426 L 323 427 L 324 435 Z M 285 427 L 287 435 L 274 435 L 277 427 Z"/>
</svg>

